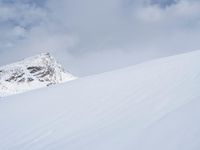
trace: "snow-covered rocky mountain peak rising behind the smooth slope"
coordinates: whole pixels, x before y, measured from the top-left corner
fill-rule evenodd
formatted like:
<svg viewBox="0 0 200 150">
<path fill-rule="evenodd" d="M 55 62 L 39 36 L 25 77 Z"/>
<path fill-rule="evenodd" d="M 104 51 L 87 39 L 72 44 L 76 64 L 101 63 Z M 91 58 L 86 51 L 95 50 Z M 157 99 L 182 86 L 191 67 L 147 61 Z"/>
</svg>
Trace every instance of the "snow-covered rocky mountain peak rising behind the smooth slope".
<svg viewBox="0 0 200 150">
<path fill-rule="evenodd" d="M 0 97 L 76 79 L 49 53 L 0 67 Z"/>
</svg>

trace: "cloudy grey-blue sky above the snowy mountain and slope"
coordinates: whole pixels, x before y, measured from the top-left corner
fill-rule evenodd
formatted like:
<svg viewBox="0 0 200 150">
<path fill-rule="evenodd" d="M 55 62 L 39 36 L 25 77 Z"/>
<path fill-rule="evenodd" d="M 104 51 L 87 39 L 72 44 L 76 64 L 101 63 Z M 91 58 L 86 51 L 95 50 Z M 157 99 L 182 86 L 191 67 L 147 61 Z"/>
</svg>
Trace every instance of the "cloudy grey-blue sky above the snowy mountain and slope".
<svg viewBox="0 0 200 150">
<path fill-rule="evenodd" d="M 0 65 L 50 52 L 88 76 L 200 49 L 199 0 L 0 0 Z"/>
</svg>

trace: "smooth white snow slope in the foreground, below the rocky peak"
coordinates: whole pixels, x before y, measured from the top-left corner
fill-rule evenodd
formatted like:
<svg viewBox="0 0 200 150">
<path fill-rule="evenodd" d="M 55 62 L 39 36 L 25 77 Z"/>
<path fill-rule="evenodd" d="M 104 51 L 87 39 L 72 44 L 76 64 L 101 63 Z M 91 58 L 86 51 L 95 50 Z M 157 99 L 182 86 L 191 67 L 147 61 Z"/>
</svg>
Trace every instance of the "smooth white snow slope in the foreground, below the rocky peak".
<svg viewBox="0 0 200 150">
<path fill-rule="evenodd" d="M 200 51 L 1 98 L 2 150 L 199 150 Z"/>
</svg>

